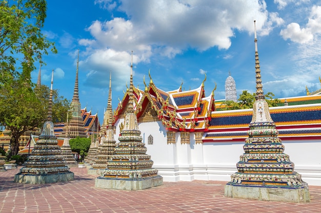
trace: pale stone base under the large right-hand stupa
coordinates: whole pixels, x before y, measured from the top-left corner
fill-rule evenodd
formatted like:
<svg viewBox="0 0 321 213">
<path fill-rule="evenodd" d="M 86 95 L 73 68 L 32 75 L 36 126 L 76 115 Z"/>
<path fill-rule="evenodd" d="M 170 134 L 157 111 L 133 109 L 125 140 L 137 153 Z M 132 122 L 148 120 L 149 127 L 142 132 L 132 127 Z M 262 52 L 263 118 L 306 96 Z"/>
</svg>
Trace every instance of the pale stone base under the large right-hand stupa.
<svg viewBox="0 0 321 213">
<path fill-rule="evenodd" d="M 310 202 L 308 186 L 304 187 L 269 187 L 255 185 L 225 185 L 225 196 L 279 202 Z"/>
</svg>

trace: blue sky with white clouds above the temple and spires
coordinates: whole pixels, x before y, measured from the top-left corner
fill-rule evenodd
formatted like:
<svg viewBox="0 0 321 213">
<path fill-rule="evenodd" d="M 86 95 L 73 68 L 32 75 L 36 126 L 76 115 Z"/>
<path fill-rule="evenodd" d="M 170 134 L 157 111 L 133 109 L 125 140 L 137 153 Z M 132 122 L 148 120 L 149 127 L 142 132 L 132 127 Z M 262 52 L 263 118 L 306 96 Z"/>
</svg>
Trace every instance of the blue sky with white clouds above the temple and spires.
<svg viewBox="0 0 321 213">
<path fill-rule="evenodd" d="M 71 100 L 79 49 L 79 99 L 99 120 L 107 106 L 112 73 L 112 105 L 129 85 L 133 51 L 134 85 L 149 83 L 165 91 L 197 88 L 207 75 L 205 94 L 225 80 L 236 82 L 237 96 L 255 91 L 254 23 L 264 92 L 276 98 L 304 96 L 320 88 L 321 2 L 253 0 L 49 0 L 42 29 L 58 54 L 43 60 L 42 84 L 54 85 Z M 36 64 L 39 67 L 39 64 Z M 32 73 L 37 81 L 38 70 Z"/>
</svg>

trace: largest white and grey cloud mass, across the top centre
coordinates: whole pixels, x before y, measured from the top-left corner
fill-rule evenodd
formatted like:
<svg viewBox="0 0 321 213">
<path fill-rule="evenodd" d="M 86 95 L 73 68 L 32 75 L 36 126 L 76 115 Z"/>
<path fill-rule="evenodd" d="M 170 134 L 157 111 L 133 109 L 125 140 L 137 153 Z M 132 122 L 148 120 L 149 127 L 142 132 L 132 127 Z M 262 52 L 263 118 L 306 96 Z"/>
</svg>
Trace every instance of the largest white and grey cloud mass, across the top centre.
<svg viewBox="0 0 321 213">
<path fill-rule="evenodd" d="M 87 59 L 82 65 L 93 71 L 86 84 L 96 87 L 105 86 L 106 69 L 112 69 L 117 81 L 124 82 L 122 74 L 129 70 L 131 50 L 136 63 L 149 63 L 154 55 L 174 58 L 188 49 L 227 50 L 235 30 L 253 33 L 254 19 L 261 35 L 268 35 L 275 26 L 283 24 L 278 13 L 267 11 L 265 1 L 235 0 L 231 4 L 225 0 L 123 0 L 115 4 L 111 0 L 96 0 L 95 4 L 127 15 L 93 21 L 87 28 L 92 38 L 78 41 L 86 47 L 83 56 Z M 111 53 L 122 57 L 114 58 Z"/>
</svg>

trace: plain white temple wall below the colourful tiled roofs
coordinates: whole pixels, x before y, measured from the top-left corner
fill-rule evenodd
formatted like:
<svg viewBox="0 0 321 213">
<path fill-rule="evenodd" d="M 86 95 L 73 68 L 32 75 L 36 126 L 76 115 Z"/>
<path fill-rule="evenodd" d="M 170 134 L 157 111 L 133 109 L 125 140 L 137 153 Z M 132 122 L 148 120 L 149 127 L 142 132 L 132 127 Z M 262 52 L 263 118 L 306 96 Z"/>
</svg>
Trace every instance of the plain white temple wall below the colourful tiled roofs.
<svg viewBox="0 0 321 213">
<path fill-rule="evenodd" d="M 115 124 L 115 140 L 118 141 L 119 121 Z M 147 154 L 154 161 L 153 168 L 158 170 L 164 181 L 220 180 L 230 181 L 235 173 L 239 156 L 244 153 L 244 141 L 196 144 L 194 133 L 190 143 L 181 144 L 180 133 L 176 133 L 176 143 L 167 144 L 166 129 L 160 122 L 139 123 Z M 148 136 L 153 136 L 153 144 L 147 143 Z M 321 185 L 321 139 L 284 140 L 284 153 L 295 164 L 295 171 L 309 185 Z"/>
</svg>

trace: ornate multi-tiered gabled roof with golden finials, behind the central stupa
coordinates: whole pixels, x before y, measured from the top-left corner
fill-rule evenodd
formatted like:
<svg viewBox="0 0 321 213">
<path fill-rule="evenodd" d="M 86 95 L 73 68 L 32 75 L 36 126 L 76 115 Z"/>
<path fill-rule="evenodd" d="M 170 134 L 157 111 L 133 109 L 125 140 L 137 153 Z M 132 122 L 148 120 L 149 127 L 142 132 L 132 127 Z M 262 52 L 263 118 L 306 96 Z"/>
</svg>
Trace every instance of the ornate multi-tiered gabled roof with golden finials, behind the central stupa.
<svg viewBox="0 0 321 213">
<path fill-rule="evenodd" d="M 214 90 L 205 97 L 204 81 L 195 89 L 164 91 L 155 86 L 149 74 L 150 82 L 145 90 L 134 87 L 134 110 L 139 122 L 162 121 L 172 131 L 204 130 L 208 127 L 211 111 L 214 111 Z M 124 114 L 128 104 L 128 91 L 115 110 L 115 121 Z"/>
</svg>

